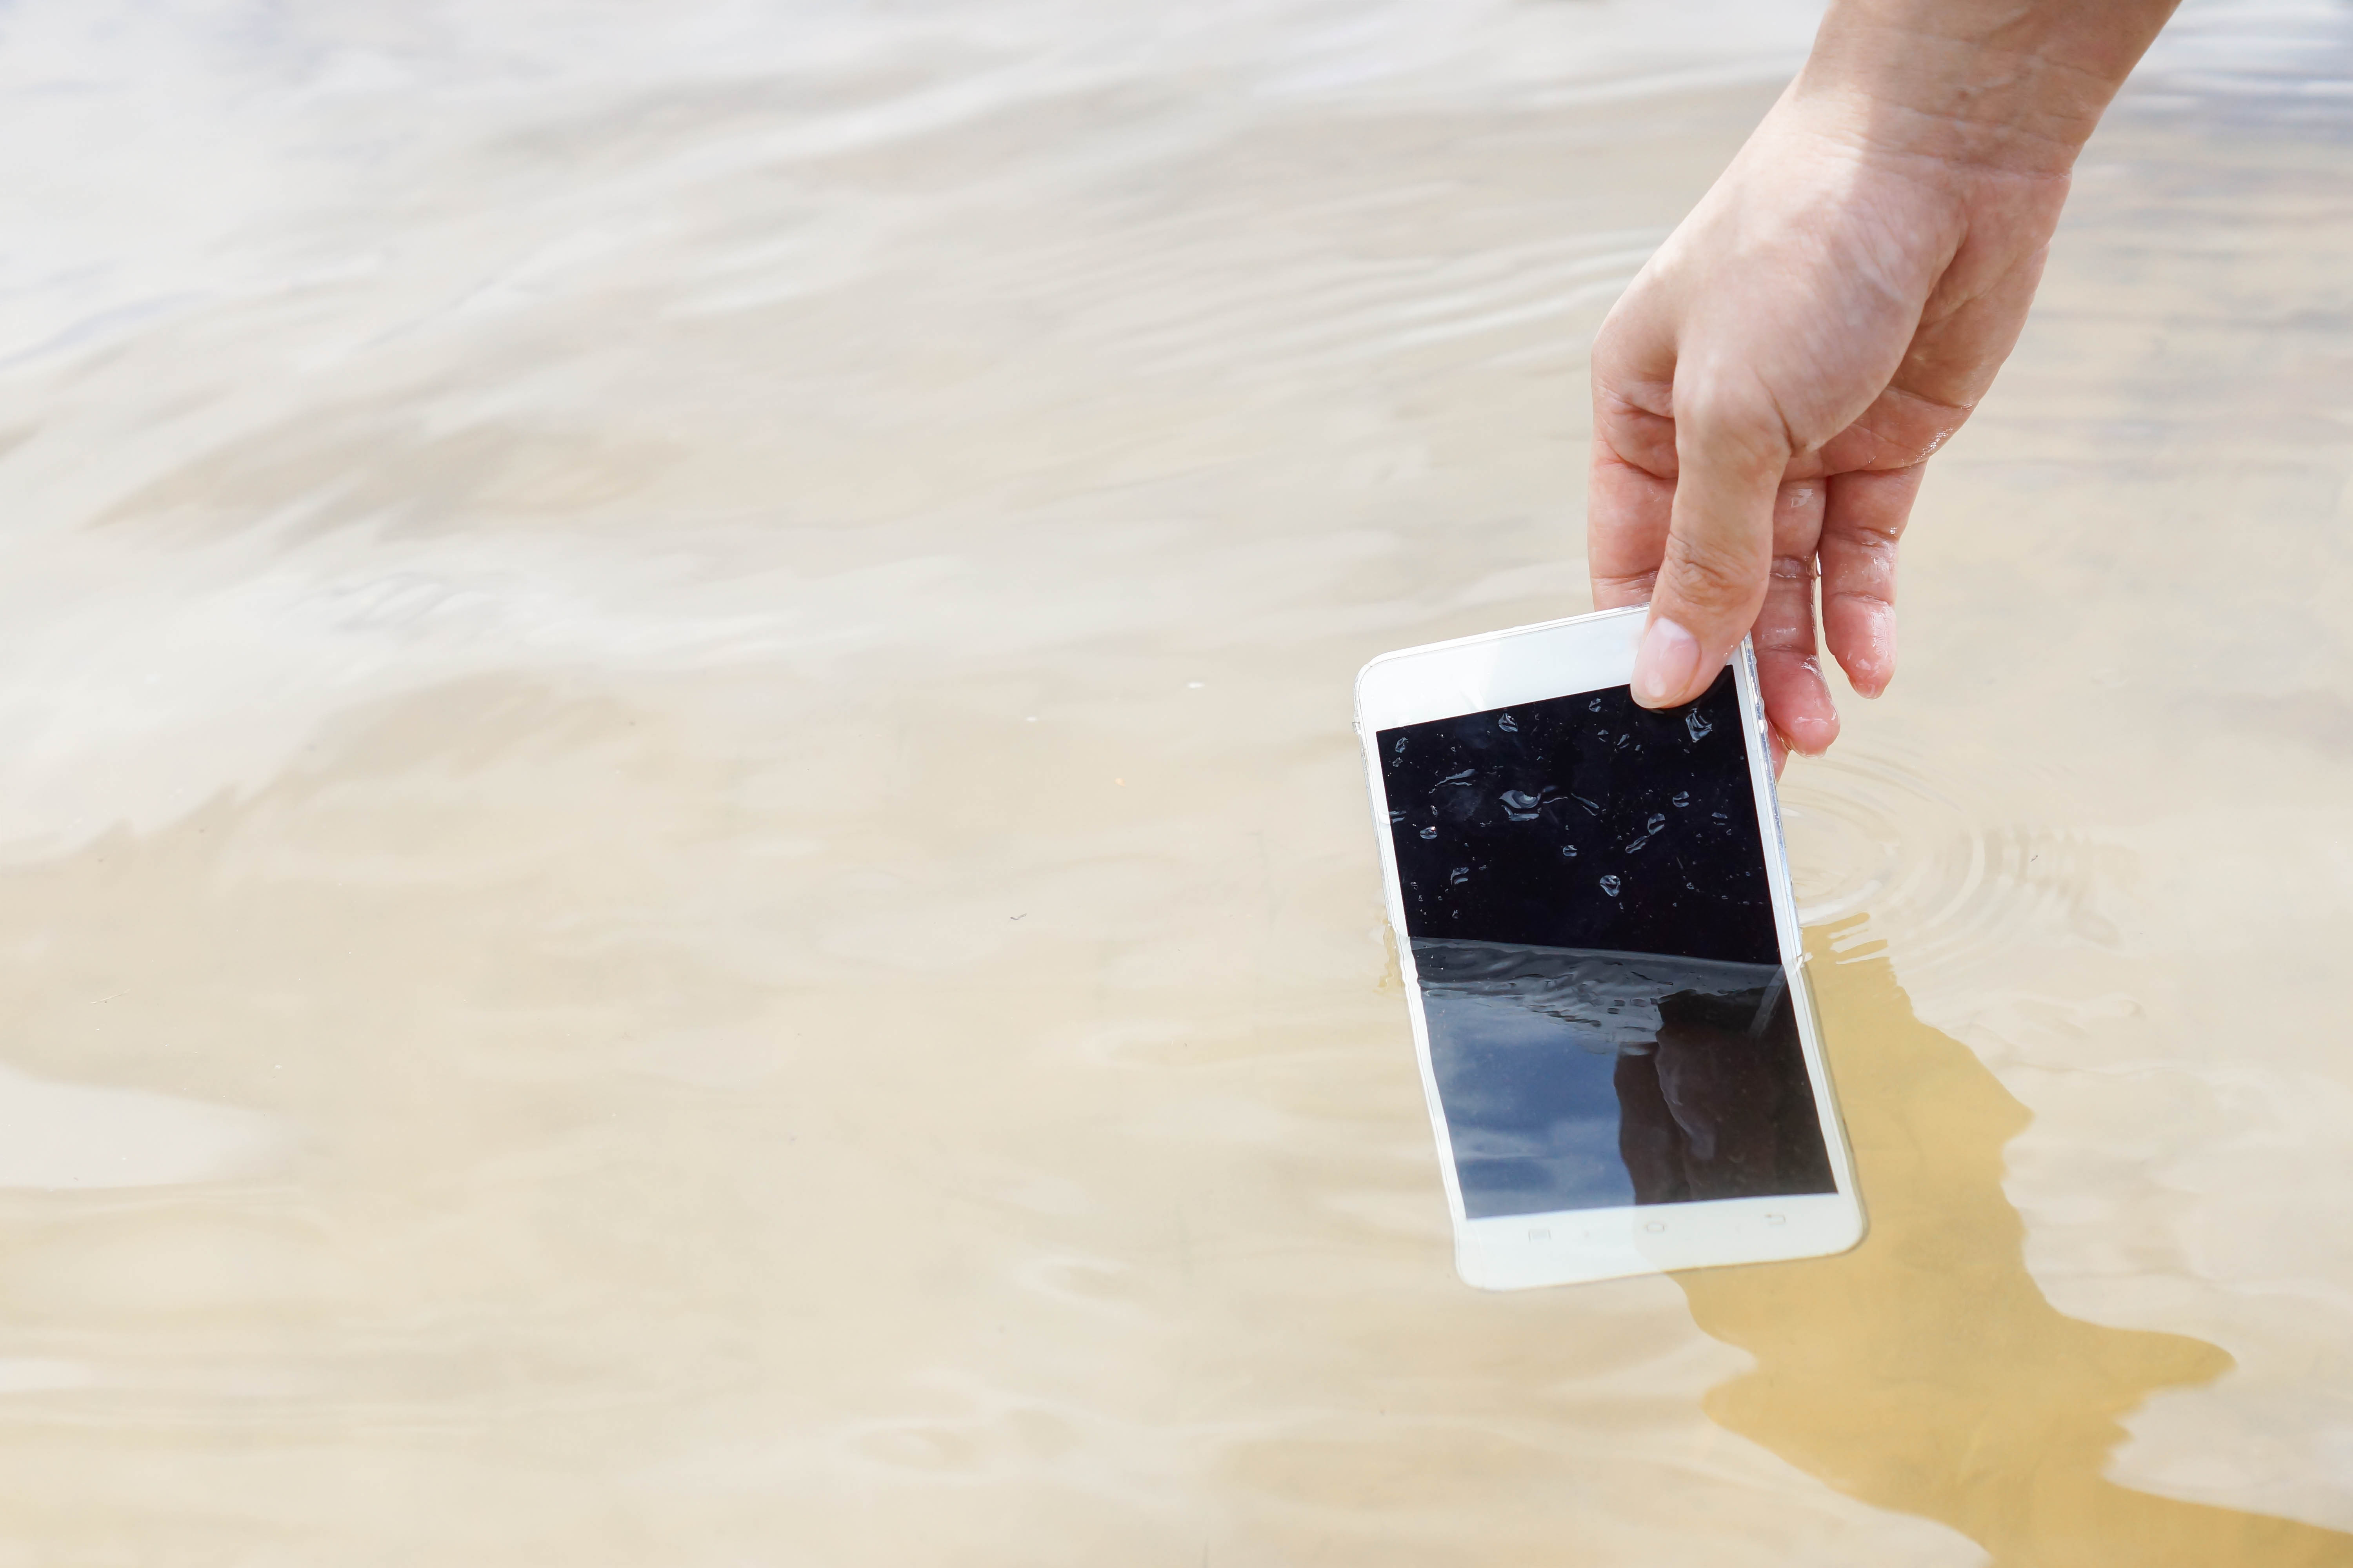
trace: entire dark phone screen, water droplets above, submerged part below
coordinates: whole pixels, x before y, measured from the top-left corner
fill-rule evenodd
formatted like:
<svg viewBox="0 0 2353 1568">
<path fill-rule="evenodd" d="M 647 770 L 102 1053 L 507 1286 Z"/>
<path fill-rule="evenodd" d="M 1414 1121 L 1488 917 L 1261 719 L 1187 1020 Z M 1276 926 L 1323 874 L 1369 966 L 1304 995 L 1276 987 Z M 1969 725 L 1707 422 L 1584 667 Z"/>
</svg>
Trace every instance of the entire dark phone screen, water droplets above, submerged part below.
<svg viewBox="0 0 2353 1568">
<path fill-rule="evenodd" d="M 1473 1220 L 1835 1192 L 1732 672 L 1379 731 Z"/>
</svg>

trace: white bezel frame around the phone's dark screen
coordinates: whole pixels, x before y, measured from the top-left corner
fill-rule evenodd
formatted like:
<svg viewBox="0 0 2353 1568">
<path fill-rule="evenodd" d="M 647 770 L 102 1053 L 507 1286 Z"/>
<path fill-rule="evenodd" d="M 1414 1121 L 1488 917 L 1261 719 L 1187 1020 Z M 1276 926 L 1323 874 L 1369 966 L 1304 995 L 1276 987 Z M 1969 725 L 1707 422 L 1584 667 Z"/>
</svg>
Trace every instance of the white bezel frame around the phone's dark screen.
<svg viewBox="0 0 2353 1568">
<path fill-rule="evenodd" d="M 1372 818 L 1381 842 L 1381 886 L 1388 900 L 1388 929 L 1395 933 L 1398 964 L 1405 971 L 1414 1051 L 1421 1058 L 1421 1091 L 1428 1098 L 1431 1131 L 1438 1138 L 1438 1168 L 1447 1187 L 1447 1211 L 1454 1218 L 1454 1269 L 1464 1284 L 1482 1291 L 1697 1269 L 1720 1262 L 1821 1258 L 1842 1253 L 1864 1239 L 1854 1157 L 1838 1119 L 1838 1098 L 1831 1093 L 1821 1030 L 1805 976 L 1798 903 L 1791 893 L 1772 752 L 1765 741 L 1765 705 L 1758 698 L 1755 656 L 1746 642 L 1732 658 L 1732 670 L 1746 715 L 1741 733 L 1748 748 L 1748 778 L 1755 785 L 1758 830 L 1765 839 L 1765 879 L 1772 886 L 1781 964 L 1791 978 L 1805 1072 L 1821 1112 L 1821 1138 L 1831 1152 L 1831 1175 L 1838 1192 L 1569 1208 L 1489 1220 L 1471 1220 L 1464 1213 L 1445 1105 L 1438 1098 L 1438 1074 L 1431 1067 L 1431 1030 L 1421 1009 L 1421 980 L 1414 973 L 1414 945 L 1405 929 L 1398 853 L 1388 837 L 1388 792 L 1381 783 L 1379 733 L 1398 724 L 1424 724 L 1511 708 L 1513 703 L 1624 686 L 1633 675 L 1633 649 L 1642 632 L 1642 616 L 1640 607 L 1612 609 L 1433 642 L 1381 654 L 1355 677 L 1355 729 L 1365 748 L 1365 778 L 1372 788 Z"/>
</svg>

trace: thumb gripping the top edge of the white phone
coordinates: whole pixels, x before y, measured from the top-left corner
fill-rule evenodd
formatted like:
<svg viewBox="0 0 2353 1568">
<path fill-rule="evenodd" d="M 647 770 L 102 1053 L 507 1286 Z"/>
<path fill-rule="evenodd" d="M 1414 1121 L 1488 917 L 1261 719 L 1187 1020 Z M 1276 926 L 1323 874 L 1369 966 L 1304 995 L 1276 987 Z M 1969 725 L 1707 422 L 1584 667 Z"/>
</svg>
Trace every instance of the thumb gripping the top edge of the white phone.
<svg viewBox="0 0 2353 1568">
<path fill-rule="evenodd" d="M 1706 691 L 1755 623 L 1772 574 L 1774 491 L 1791 456 L 1767 397 L 1689 402 L 1675 397 L 1675 503 L 1633 658 L 1633 701 L 1645 708 Z"/>
</svg>

